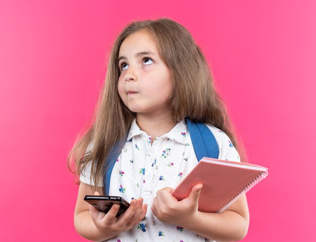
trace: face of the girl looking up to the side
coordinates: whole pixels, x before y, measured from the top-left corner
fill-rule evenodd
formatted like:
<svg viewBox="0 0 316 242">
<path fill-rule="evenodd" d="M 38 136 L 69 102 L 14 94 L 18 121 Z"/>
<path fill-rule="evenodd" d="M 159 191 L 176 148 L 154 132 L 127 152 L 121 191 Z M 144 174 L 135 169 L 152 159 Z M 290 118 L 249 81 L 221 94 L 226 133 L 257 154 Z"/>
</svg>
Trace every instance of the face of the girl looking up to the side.
<svg viewBox="0 0 316 242">
<path fill-rule="evenodd" d="M 130 111 L 146 116 L 171 111 L 171 72 L 148 33 L 138 31 L 122 42 L 119 65 L 118 91 Z"/>
</svg>

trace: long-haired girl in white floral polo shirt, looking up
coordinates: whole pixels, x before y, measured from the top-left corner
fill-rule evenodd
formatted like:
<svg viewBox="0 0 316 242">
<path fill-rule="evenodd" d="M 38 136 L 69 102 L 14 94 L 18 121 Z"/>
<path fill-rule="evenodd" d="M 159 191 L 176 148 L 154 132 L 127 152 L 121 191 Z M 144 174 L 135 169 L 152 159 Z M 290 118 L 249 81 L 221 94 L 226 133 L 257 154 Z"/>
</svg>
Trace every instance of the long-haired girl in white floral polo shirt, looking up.
<svg viewBox="0 0 316 242">
<path fill-rule="evenodd" d="M 203 184 L 182 201 L 173 197 L 173 188 L 198 162 L 187 119 L 212 131 L 219 159 L 243 161 L 207 62 L 188 30 L 170 19 L 131 23 L 114 43 L 93 124 L 68 159 L 80 174 L 74 224 L 81 236 L 181 242 L 246 235 L 245 196 L 222 213 L 197 210 Z M 105 214 L 83 200 L 93 194 L 123 197 L 130 207 L 119 217 L 119 205 Z"/>
</svg>

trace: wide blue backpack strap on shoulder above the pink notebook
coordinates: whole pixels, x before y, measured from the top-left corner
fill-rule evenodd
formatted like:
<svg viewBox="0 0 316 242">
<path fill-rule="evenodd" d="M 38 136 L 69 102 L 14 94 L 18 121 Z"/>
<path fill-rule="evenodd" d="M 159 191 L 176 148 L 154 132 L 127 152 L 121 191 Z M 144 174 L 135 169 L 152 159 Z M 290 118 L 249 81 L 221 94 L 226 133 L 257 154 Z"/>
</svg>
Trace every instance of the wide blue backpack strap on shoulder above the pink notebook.
<svg viewBox="0 0 316 242">
<path fill-rule="evenodd" d="M 203 157 L 219 159 L 220 150 L 212 131 L 203 123 L 186 121 L 197 161 Z"/>
</svg>

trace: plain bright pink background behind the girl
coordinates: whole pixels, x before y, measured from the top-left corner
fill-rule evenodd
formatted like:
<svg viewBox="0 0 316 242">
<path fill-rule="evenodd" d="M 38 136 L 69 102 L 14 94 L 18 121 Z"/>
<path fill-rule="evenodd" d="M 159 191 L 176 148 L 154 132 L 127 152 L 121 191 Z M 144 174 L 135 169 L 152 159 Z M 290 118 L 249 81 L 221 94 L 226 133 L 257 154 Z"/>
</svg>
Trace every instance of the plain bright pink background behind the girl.
<svg viewBox="0 0 316 242">
<path fill-rule="evenodd" d="M 248 193 L 243 241 L 315 241 L 315 2 L 157 2 L 0 2 L 1 240 L 85 241 L 68 152 L 116 34 L 170 17 L 212 63 L 249 162 L 270 168 Z"/>
</svg>

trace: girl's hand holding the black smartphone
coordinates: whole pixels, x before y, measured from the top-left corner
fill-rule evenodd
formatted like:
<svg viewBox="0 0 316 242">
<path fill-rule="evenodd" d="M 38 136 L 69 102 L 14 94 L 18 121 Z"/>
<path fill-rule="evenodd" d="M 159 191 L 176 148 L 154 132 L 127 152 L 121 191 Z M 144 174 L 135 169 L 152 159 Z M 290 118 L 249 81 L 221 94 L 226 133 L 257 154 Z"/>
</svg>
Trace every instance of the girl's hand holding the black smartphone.
<svg viewBox="0 0 316 242">
<path fill-rule="evenodd" d="M 94 195 L 99 196 L 97 191 Z M 116 217 L 120 205 L 113 205 L 108 213 L 97 210 L 92 205 L 89 205 L 90 216 L 99 232 L 106 237 L 109 235 L 114 237 L 122 232 L 130 230 L 144 219 L 147 212 L 147 204 L 143 205 L 143 199 L 133 199 L 128 209 Z M 109 238 L 109 237 L 108 237 Z"/>
</svg>

